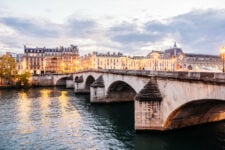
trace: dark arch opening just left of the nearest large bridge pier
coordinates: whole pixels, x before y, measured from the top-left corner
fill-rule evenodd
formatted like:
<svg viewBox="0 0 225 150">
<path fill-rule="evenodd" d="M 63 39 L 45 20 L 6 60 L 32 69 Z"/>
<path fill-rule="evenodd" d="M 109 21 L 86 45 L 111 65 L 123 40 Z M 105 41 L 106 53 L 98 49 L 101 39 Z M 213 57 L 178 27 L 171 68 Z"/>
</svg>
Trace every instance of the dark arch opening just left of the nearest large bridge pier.
<svg viewBox="0 0 225 150">
<path fill-rule="evenodd" d="M 111 101 L 133 101 L 137 92 L 128 83 L 117 80 L 109 85 L 107 89 L 107 98 Z"/>
</svg>

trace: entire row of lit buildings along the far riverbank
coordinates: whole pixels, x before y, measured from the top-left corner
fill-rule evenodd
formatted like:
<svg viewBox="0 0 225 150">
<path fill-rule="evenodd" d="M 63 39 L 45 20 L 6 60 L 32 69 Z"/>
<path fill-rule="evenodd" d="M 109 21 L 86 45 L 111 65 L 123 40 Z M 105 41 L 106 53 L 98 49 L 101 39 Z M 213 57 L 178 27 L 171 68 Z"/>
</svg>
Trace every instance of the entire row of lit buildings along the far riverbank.
<svg viewBox="0 0 225 150">
<path fill-rule="evenodd" d="M 176 43 L 165 51 L 151 51 L 147 56 L 93 52 L 79 57 L 77 46 L 64 48 L 28 48 L 20 55 L 19 72 L 32 74 L 73 73 L 87 69 L 222 71 L 220 56 L 184 53 Z"/>
</svg>

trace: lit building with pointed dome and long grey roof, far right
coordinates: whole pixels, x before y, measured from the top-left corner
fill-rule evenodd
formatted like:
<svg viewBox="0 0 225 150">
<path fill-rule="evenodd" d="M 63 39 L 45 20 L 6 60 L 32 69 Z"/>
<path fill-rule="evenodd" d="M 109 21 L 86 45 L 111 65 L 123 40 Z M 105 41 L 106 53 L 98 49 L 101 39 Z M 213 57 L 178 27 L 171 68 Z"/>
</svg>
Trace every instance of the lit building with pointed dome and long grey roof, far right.
<svg viewBox="0 0 225 150">
<path fill-rule="evenodd" d="M 157 58 L 157 70 L 220 71 L 222 68 L 220 56 L 184 53 L 176 43 L 164 52 L 152 51 L 148 57 Z"/>
</svg>

